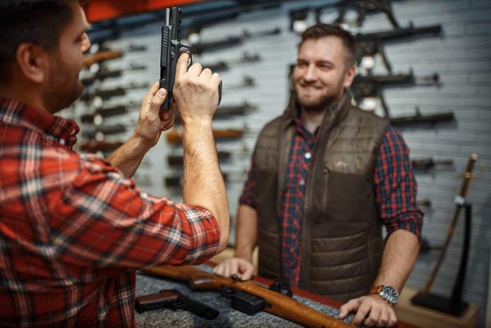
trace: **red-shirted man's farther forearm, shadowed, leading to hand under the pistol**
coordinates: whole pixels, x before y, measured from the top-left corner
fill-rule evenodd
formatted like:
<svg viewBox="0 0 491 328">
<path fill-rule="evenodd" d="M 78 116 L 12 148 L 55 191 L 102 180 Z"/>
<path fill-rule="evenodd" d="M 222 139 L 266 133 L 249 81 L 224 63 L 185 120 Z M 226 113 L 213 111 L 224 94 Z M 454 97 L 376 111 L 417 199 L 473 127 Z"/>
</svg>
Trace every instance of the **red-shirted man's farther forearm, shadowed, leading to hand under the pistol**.
<svg viewBox="0 0 491 328">
<path fill-rule="evenodd" d="M 132 135 L 121 147 L 114 150 L 108 161 L 123 172 L 126 178 L 131 178 L 148 150 L 150 147 L 143 140 Z"/>
</svg>

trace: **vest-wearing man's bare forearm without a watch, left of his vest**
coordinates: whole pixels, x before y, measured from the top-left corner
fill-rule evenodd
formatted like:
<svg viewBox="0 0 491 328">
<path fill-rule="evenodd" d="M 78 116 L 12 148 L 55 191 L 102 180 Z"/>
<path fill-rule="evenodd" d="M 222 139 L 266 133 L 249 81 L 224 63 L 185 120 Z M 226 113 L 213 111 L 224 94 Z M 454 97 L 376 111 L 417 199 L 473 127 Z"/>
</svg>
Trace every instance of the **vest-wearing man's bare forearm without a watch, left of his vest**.
<svg viewBox="0 0 491 328">
<path fill-rule="evenodd" d="M 257 241 L 257 212 L 248 205 L 239 205 L 236 221 L 235 256 L 252 262 Z"/>
</svg>

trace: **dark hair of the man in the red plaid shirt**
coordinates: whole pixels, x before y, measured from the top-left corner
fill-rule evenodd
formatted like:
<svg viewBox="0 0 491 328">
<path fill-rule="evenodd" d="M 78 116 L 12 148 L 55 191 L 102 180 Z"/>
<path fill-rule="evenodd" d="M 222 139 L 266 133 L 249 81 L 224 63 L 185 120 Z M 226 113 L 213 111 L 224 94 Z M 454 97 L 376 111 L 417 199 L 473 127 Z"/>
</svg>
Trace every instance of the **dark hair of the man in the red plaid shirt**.
<svg viewBox="0 0 491 328">
<path fill-rule="evenodd" d="M 20 44 L 58 49 L 61 30 L 73 19 L 72 2 L 75 0 L 1 0 L 0 83 L 11 78 L 11 63 Z"/>
</svg>

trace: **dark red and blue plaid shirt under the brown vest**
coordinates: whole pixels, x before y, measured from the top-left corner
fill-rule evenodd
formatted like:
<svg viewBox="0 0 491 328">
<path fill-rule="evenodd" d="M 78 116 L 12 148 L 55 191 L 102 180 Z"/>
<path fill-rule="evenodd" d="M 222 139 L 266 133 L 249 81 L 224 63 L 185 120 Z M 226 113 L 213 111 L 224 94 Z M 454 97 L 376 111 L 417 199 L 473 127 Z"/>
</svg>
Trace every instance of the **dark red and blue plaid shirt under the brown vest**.
<svg viewBox="0 0 491 328">
<path fill-rule="evenodd" d="M 310 174 L 310 163 L 316 135 L 305 129 L 300 119 L 294 119 L 295 132 L 291 140 L 289 164 L 286 167 L 284 190 L 281 194 L 281 260 L 286 281 L 298 286 L 301 272 L 300 236 L 303 217 L 303 200 Z M 241 205 L 254 206 L 256 188 L 251 163 Z M 375 205 L 380 219 L 387 227 L 387 235 L 405 229 L 420 238 L 423 213 L 416 205 L 416 179 L 413 176 L 409 150 L 401 134 L 389 127 L 378 150 L 373 188 Z"/>
</svg>

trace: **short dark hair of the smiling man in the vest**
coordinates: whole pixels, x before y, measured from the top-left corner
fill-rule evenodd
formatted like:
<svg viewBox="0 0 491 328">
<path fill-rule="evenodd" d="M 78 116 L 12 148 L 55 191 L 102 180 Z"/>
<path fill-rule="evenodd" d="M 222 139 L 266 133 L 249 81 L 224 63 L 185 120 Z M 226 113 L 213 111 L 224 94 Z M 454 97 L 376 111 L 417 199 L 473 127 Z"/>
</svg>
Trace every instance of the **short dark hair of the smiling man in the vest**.
<svg viewBox="0 0 491 328">
<path fill-rule="evenodd" d="M 320 39 L 321 37 L 338 37 L 344 46 L 344 59 L 346 62 L 346 68 L 355 65 L 356 63 L 356 49 L 355 49 L 355 37 L 341 28 L 339 24 L 316 24 L 308 28 L 302 33 L 302 40 L 298 44 L 298 49 L 300 49 L 303 42 L 310 39 Z"/>
</svg>

